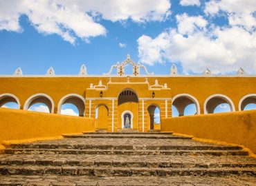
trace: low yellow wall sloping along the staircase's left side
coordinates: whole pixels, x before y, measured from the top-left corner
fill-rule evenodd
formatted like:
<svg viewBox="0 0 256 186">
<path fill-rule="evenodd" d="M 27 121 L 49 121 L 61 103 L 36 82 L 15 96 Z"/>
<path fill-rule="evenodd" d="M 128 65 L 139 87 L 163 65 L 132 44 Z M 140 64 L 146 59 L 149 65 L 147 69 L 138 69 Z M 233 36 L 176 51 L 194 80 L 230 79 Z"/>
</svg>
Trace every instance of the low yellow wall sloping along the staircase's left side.
<svg viewBox="0 0 256 186">
<path fill-rule="evenodd" d="M 0 108 L 0 145 L 6 141 L 60 138 L 62 134 L 94 130 L 93 118 Z"/>
</svg>

